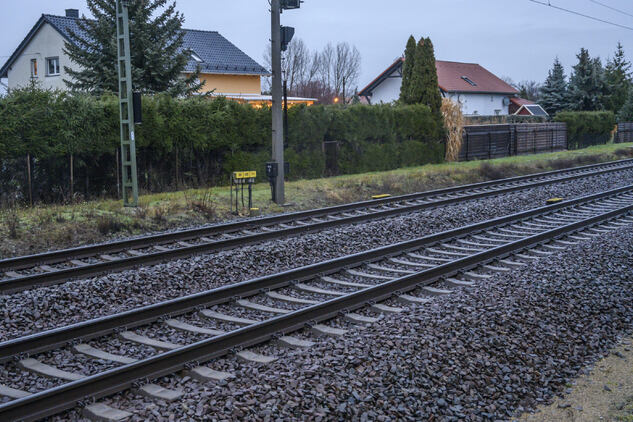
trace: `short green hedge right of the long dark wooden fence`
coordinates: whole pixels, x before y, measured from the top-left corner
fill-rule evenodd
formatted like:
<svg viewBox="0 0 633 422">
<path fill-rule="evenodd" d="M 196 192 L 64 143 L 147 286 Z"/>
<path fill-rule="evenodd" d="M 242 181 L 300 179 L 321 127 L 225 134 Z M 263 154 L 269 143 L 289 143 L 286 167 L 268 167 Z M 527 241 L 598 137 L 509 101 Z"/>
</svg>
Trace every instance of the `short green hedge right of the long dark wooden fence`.
<svg viewBox="0 0 633 422">
<path fill-rule="evenodd" d="M 608 143 L 616 124 L 611 111 L 563 111 L 554 121 L 567 123 L 569 149 Z"/>
</svg>

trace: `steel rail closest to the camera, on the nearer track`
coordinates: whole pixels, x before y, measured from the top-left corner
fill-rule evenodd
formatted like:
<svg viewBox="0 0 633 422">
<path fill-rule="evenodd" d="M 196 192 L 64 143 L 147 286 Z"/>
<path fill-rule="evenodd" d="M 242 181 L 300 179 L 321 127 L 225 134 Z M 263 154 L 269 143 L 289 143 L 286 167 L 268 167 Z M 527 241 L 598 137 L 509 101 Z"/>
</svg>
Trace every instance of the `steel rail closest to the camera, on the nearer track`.
<svg viewBox="0 0 633 422">
<path fill-rule="evenodd" d="M 439 278 L 469 269 L 496 258 L 503 258 L 571 232 L 593 226 L 623 214 L 630 214 L 633 205 L 561 226 L 523 238 L 476 255 L 400 277 L 353 292 L 340 298 L 312 305 L 289 314 L 271 318 L 221 336 L 184 346 L 132 364 L 114 368 L 78 381 L 42 391 L 0 406 L 1 420 L 31 421 L 70 409 L 86 399 L 98 399 L 131 387 L 137 380 L 156 379 L 186 369 L 190 363 L 206 362 L 233 350 L 271 340 L 278 335 L 300 330 L 342 312 L 350 312 L 369 303 L 388 299 L 396 293 L 429 285 Z"/>
</svg>

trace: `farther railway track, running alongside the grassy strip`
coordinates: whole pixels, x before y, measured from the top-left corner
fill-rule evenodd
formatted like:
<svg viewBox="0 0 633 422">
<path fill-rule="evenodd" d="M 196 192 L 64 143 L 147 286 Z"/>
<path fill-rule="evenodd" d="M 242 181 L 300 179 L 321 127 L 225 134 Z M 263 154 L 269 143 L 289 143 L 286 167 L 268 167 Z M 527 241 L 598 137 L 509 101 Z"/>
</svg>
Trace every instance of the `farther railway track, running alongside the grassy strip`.
<svg viewBox="0 0 633 422">
<path fill-rule="evenodd" d="M 633 168 L 620 160 L 0 260 L 0 294 Z"/>
</svg>

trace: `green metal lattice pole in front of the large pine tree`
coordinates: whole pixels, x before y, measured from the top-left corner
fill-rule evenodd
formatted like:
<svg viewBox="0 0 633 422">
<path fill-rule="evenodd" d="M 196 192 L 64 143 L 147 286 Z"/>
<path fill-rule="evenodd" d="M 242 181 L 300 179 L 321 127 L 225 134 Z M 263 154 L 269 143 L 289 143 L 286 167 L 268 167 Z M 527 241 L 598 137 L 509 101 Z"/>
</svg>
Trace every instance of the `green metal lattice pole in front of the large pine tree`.
<svg viewBox="0 0 633 422">
<path fill-rule="evenodd" d="M 138 205 L 134 107 L 132 105 L 132 59 L 130 52 L 129 0 L 116 0 L 116 26 L 119 68 L 119 104 L 121 120 L 121 171 L 123 206 Z"/>
</svg>

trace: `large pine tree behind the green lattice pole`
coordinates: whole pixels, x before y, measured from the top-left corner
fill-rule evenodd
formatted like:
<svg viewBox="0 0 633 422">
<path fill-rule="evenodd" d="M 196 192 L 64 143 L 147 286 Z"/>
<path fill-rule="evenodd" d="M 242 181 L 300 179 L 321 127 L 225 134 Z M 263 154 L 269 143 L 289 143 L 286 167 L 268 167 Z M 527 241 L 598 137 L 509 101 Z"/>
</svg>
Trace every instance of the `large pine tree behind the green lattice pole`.
<svg viewBox="0 0 633 422">
<path fill-rule="evenodd" d="M 134 89 L 144 93 L 191 94 L 200 89 L 198 72 L 182 71 L 191 52 L 184 50 L 184 17 L 169 0 L 130 2 L 130 50 Z M 71 33 L 65 52 L 77 69 L 65 67 L 66 85 L 78 91 L 118 92 L 116 10 L 112 0 L 87 0 L 94 20 L 79 19 L 81 34 Z M 162 11 L 161 11 L 162 10 Z"/>
</svg>

